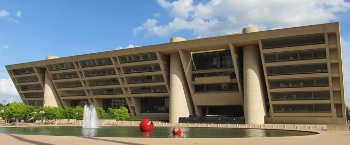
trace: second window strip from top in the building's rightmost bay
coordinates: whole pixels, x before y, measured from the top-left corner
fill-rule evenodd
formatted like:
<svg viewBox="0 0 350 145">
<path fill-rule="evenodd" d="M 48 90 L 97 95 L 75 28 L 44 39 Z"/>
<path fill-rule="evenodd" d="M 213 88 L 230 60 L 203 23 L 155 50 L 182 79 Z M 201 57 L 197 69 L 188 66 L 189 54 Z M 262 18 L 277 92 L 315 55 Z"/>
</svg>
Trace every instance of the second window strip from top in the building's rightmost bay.
<svg viewBox="0 0 350 145">
<path fill-rule="evenodd" d="M 326 49 L 321 48 L 321 49 L 310 49 L 310 50 L 264 53 L 264 58 L 265 58 L 265 63 L 275 62 L 275 61 L 326 58 Z"/>
</svg>

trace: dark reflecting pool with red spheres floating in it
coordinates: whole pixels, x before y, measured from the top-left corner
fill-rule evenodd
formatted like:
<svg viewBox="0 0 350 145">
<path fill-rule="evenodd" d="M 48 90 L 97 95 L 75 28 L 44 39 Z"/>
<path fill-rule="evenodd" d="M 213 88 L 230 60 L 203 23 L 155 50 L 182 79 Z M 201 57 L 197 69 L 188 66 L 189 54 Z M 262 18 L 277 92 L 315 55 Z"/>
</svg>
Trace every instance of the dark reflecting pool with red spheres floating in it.
<svg viewBox="0 0 350 145">
<path fill-rule="evenodd" d="M 155 127 L 152 132 L 141 132 L 139 127 L 29 127 L 0 128 L 4 134 L 51 135 L 51 136 L 94 136 L 94 137 L 153 137 L 153 138 L 236 138 L 236 137 L 279 137 L 302 136 L 316 133 L 286 130 L 230 129 L 230 128 L 185 128 L 181 135 L 172 135 L 173 127 Z M 176 129 L 178 130 L 178 129 Z"/>
</svg>

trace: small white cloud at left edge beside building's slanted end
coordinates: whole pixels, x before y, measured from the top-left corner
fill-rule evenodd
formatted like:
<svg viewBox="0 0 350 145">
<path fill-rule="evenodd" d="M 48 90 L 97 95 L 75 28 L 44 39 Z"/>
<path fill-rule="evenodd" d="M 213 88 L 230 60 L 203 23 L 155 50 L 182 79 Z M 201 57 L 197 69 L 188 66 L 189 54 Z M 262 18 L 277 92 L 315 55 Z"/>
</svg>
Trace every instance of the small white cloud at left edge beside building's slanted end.
<svg viewBox="0 0 350 145">
<path fill-rule="evenodd" d="M 18 96 L 17 90 L 13 85 L 11 78 L 0 79 L 0 95 Z"/>
</svg>

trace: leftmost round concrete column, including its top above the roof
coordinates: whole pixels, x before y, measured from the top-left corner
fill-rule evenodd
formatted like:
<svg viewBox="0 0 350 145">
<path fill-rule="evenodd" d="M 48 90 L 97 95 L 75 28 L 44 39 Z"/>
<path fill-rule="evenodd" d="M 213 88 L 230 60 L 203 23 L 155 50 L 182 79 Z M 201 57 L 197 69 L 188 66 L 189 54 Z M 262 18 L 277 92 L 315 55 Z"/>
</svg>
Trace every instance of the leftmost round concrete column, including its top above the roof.
<svg viewBox="0 0 350 145">
<path fill-rule="evenodd" d="M 46 59 L 54 59 L 54 58 L 59 58 L 59 57 L 57 56 L 46 57 Z M 45 100 L 44 106 L 54 106 L 54 107 L 63 108 L 61 100 L 56 92 L 54 82 L 51 80 L 51 76 L 47 70 L 45 71 L 44 100 Z"/>
</svg>

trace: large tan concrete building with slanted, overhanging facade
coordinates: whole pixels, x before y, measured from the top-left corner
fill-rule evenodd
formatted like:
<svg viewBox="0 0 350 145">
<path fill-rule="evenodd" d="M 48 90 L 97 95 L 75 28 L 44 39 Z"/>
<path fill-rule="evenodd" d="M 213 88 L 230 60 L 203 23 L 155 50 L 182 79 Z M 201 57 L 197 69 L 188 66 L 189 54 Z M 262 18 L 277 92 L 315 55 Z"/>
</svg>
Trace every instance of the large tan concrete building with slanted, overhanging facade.
<svg viewBox="0 0 350 145">
<path fill-rule="evenodd" d="M 233 115 L 345 124 L 339 23 L 212 37 L 6 66 L 25 105 L 126 106 L 132 119 Z"/>
</svg>

